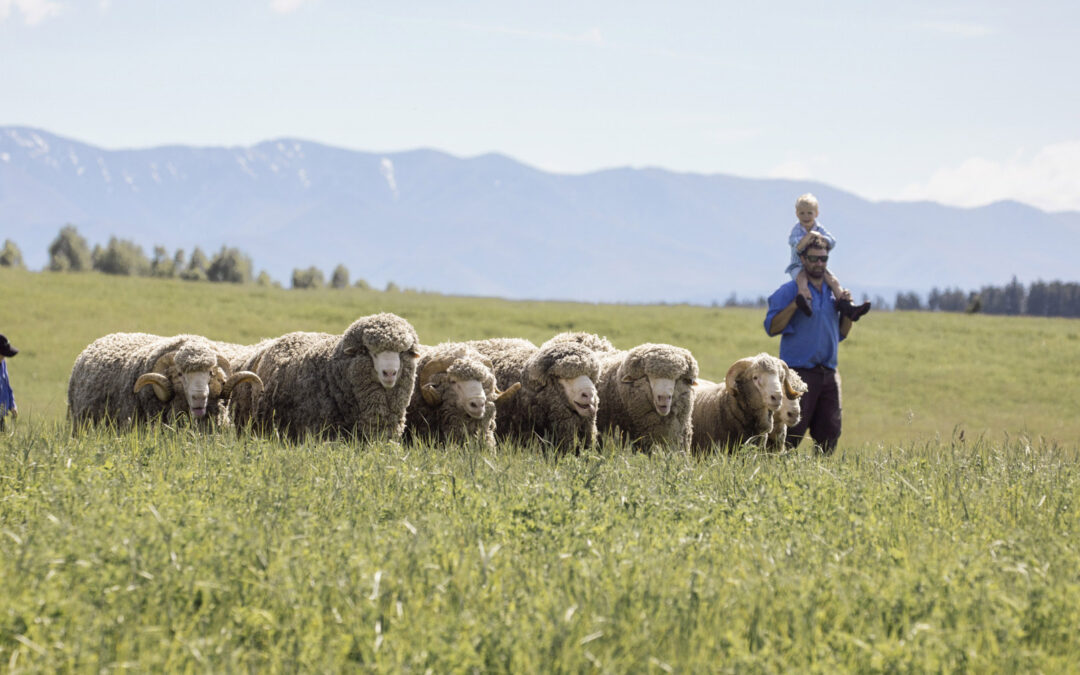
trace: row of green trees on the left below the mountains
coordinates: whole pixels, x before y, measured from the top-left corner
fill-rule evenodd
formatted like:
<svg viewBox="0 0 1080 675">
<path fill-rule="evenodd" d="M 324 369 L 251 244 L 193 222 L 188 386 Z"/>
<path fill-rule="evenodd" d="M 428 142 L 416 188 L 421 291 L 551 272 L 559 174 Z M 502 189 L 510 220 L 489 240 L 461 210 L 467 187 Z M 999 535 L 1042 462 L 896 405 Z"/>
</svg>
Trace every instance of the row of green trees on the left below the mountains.
<svg viewBox="0 0 1080 675">
<path fill-rule="evenodd" d="M 26 268 L 23 253 L 15 242 L 4 241 L 0 248 L 0 267 Z M 49 265 L 45 270 L 51 272 L 89 272 L 98 271 L 105 274 L 123 276 L 157 276 L 160 279 L 180 279 L 184 281 L 206 281 L 217 283 L 246 284 L 256 283 L 264 286 L 280 286 L 270 278 L 266 270 L 253 275 L 252 258 L 239 248 L 221 246 L 213 256 L 207 256 L 202 248 L 195 246 L 191 255 L 177 248 L 170 254 L 164 246 L 154 246 L 153 255 L 147 256 L 143 247 L 135 242 L 116 237 L 109 238 L 106 245 L 96 244 L 93 248 L 85 238 L 79 234 L 73 225 L 60 228 L 56 239 L 49 244 Z M 293 288 L 346 288 L 349 283 L 349 269 L 338 265 L 330 273 L 329 282 L 318 267 L 294 269 Z M 372 286 L 363 279 L 352 283 L 356 288 L 370 289 Z M 388 292 L 399 291 L 395 283 L 387 284 Z"/>
</svg>

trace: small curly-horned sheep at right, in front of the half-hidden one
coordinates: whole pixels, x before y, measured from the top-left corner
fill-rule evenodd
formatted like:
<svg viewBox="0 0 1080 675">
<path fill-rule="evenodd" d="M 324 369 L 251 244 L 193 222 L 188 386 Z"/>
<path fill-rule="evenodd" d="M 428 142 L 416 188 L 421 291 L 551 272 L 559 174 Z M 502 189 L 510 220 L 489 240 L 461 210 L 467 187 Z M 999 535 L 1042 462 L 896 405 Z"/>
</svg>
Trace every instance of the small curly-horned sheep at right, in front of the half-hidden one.
<svg viewBox="0 0 1080 675">
<path fill-rule="evenodd" d="M 762 352 L 731 364 L 723 382 L 700 388 L 693 405 L 694 453 L 714 445 L 760 445 L 783 400 L 783 361 Z"/>
</svg>

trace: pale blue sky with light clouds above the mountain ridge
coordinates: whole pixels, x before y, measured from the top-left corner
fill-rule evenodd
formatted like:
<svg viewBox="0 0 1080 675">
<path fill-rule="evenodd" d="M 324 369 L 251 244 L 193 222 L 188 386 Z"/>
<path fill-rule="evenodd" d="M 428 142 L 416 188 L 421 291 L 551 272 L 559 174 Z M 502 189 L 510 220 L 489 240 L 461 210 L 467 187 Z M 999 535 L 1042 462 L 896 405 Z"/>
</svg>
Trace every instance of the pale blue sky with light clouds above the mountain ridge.
<svg viewBox="0 0 1080 675">
<path fill-rule="evenodd" d="M 1080 211 L 1080 3 L 0 0 L 0 125 Z"/>
</svg>

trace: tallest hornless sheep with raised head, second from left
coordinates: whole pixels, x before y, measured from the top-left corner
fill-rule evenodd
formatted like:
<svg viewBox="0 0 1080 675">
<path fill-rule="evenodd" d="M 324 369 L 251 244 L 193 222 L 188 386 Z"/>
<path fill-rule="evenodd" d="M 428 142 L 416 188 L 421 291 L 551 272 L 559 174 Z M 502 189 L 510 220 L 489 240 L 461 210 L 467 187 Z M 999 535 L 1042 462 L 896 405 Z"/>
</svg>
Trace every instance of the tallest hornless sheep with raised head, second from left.
<svg viewBox="0 0 1080 675">
<path fill-rule="evenodd" d="M 390 313 L 357 319 L 341 335 L 289 333 L 262 342 L 245 362 L 262 378 L 262 394 L 237 406 L 235 423 L 251 420 L 259 432 L 293 441 L 311 432 L 396 442 L 418 347 L 413 326 Z"/>
</svg>

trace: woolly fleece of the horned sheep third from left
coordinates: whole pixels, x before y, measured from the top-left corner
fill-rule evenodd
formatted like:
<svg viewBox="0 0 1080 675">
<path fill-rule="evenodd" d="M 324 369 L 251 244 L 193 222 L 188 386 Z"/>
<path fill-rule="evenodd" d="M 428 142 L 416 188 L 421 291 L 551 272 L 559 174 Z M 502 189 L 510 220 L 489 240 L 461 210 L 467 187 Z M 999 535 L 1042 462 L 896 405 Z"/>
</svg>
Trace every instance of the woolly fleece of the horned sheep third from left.
<svg viewBox="0 0 1080 675">
<path fill-rule="evenodd" d="M 433 360 L 453 357 L 445 372 L 436 373 L 430 383 L 435 386 L 441 399 L 437 406 L 430 405 L 420 393 L 423 382 L 417 377 L 405 416 L 407 438 L 430 438 L 443 443 L 468 443 L 478 441 L 484 446 L 495 447 L 495 373 L 485 363 L 484 356 L 462 342 L 444 342 L 421 350 L 416 372 L 419 375 Z M 482 417 L 465 413 L 463 402 L 458 400 L 450 378 L 458 381 L 476 380 L 484 388 L 487 403 Z"/>
</svg>

